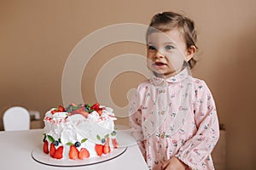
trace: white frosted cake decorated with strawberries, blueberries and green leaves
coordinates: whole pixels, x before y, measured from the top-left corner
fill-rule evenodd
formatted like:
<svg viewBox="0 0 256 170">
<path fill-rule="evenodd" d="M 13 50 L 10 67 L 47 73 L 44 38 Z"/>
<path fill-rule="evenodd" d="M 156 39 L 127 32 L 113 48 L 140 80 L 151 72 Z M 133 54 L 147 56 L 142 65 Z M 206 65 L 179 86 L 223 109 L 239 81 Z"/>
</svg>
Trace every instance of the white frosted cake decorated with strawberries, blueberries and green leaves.
<svg viewBox="0 0 256 170">
<path fill-rule="evenodd" d="M 94 105 L 59 105 L 44 116 L 44 154 L 55 159 L 83 160 L 118 148 L 113 110 Z"/>
</svg>

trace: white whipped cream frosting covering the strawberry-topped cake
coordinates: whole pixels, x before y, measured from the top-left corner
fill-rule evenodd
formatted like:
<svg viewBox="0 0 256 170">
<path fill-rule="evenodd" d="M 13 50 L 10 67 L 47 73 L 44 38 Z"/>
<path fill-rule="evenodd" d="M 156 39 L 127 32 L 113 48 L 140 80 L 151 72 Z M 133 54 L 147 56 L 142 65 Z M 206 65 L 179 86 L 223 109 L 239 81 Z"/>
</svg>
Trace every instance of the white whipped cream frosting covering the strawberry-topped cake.
<svg viewBox="0 0 256 170">
<path fill-rule="evenodd" d="M 61 139 L 61 144 L 64 146 L 63 158 L 68 158 L 69 145 L 67 143 L 80 142 L 87 139 L 79 148 L 86 148 L 90 152 L 90 157 L 97 156 L 95 144 L 102 144 L 102 139 L 108 136 L 115 139 L 111 133 L 114 131 L 114 122 L 116 117 L 113 110 L 109 107 L 104 108 L 100 116 L 96 111 L 91 112 L 87 117 L 80 114 L 68 116 L 67 112 L 56 112 L 52 114 L 47 111 L 44 116 L 44 133 L 52 136 L 55 140 Z M 49 142 L 50 143 L 50 142 Z M 109 142 L 111 150 L 113 150 L 112 142 Z M 56 147 L 57 148 L 57 147 Z M 79 150 L 78 148 L 78 150 Z"/>
</svg>

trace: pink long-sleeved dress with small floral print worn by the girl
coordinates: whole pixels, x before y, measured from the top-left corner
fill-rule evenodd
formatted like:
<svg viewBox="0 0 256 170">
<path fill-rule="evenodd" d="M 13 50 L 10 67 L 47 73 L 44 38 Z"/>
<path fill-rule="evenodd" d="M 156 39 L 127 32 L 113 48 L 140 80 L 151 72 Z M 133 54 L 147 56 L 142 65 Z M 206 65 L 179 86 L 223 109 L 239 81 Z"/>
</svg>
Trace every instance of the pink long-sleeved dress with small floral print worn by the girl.
<svg viewBox="0 0 256 170">
<path fill-rule="evenodd" d="M 139 84 L 130 102 L 130 125 L 149 169 L 177 156 L 192 169 L 214 169 L 218 116 L 207 84 L 188 69 Z"/>
</svg>

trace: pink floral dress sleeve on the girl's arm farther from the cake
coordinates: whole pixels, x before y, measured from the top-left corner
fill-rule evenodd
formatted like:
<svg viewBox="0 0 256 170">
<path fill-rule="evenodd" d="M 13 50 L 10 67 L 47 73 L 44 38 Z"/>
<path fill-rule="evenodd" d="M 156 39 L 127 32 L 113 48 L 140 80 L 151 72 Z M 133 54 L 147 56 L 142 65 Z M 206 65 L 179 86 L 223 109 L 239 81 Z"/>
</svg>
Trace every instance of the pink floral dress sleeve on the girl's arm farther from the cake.
<svg viewBox="0 0 256 170">
<path fill-rule="evenodd" d="M 209 159 L 219 137 L 218 116 L 212 94 L 205 82 L 195 84 L 194 116 L 197 132 L 176 155 L 189 167 L 198 167 L 202 161 Z"/>
</svg>

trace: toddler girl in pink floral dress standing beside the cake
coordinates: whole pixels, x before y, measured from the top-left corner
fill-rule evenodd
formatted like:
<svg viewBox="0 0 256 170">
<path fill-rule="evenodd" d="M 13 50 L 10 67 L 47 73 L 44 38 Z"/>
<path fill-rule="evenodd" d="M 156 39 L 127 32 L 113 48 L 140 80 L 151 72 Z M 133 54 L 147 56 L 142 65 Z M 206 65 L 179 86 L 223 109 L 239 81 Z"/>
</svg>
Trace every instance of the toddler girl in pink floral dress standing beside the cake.
<svg viewBox="0 0 256 170">
<path fill-rule="evenodd" d="M 194 22 L 173 12 L 155 14 L 146 38 L 152 77 L 130 102 L 130 124 L 149 169 L 214 169 L 218 116 L 207 84 L 190 74 Z"/>
</svg>

